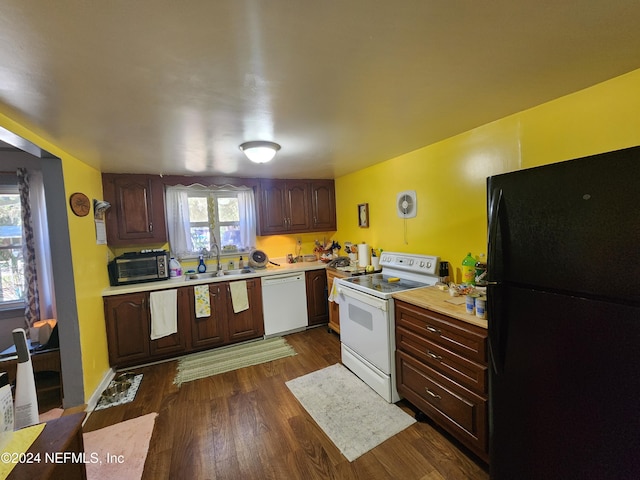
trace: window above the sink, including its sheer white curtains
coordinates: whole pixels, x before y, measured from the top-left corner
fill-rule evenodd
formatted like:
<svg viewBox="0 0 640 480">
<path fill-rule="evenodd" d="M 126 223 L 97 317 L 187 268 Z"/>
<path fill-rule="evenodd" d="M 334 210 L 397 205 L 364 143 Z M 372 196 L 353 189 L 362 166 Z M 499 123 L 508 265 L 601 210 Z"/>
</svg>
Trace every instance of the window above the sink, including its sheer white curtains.
<svg viewBox="0 0 640 480">
<path fill-rule="evenodd" d="M 166 190 L 169 244 L 173 256 L 193 257 L 203 250 L 249 251 L 255 246 L 253 189 L 176 186 Z"/>
</svg>

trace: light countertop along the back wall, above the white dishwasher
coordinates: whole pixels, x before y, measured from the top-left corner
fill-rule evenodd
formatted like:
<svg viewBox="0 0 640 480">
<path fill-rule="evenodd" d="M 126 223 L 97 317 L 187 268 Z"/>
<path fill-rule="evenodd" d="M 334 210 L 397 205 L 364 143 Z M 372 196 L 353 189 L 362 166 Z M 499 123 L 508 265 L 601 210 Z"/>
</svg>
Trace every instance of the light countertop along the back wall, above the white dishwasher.
<svg viewBox="0 0 640 480">
<path fill-rule="evenodd" d="M 307 270 L 325 269 L 326 264 L 316 262 L 298 262 L 286 263 L 286 259 L 280 262 L 280 259 L 273 259 L 273 262 L 279 266 L 269 264 L 266 268 L 254 269 L 251 273 L 240 273 L 237 275 L 223 275 L 221 277 L 207 277 L 199 279 L 190 279 L 188 275 L 182 275 L 179 278 L 169 278 L 168 280 L 160 280 L 157 282 L 135 283 L 133 285 L 120 285 L 118 287 L 108 287 L 102 291 L 103 297 L 112 295 L 123 295 L 125 293 L 150 292 L 154 290 L 166 290 L 169 288 L 186 287 L 189 285 L 200 285 L 203 283 L 229 282 L 234 280 L 243 280 L 256 277 L 267 277 L 269 275 L 278 275 L 280 273 L 306 272 Z"/>
</svg>

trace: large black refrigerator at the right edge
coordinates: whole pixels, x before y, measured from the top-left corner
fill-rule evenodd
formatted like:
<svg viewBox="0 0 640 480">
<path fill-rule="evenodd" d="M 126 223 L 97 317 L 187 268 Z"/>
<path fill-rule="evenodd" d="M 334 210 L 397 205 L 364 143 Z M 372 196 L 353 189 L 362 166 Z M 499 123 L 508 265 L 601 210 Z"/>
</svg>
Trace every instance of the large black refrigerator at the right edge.
<svg viewBox="0 0 640 480">
<path fill-rule="evenodd" d="M 640 147 L 487 197 L 491 478 L 640 479 Z"/>
</svg>

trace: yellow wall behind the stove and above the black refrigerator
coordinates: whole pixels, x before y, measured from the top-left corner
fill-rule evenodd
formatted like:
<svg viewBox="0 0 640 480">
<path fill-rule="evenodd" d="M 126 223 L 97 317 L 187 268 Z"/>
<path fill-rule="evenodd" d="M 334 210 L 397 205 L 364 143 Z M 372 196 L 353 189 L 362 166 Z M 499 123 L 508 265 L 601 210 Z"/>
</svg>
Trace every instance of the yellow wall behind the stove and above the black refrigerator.
<svg viewBox="0 0 640 480">
<path fill-rule="evenodd" d="M 640 70 L 336 179 L 342 243 L 438 255 L 486 253 L 486 177 L 640 144 Z M 416 190 L 417 217 L 396 194 Z M 357 223 L 369 204 L 370 228 Z"/>
</svg>

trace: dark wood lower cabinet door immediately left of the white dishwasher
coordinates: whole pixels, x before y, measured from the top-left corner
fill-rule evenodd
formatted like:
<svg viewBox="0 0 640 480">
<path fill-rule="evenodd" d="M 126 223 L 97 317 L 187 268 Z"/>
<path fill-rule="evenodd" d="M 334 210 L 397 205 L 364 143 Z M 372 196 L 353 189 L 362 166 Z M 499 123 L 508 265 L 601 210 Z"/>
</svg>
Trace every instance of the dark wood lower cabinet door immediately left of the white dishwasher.
<svg viewBox="0 0 640 480">
<path fill-rule="evenodd" d="M 264 335 L 264 318 L 262 316 L 262 289 L 260 279 L 247 280 L 247 298 L 249 308 L 234 313 L 231 298 L 230 282 L 224 282 L 227 300 L 227 328 L 229 343 L 250 340 Z"/>
</svg>

